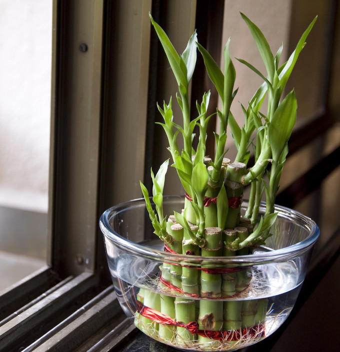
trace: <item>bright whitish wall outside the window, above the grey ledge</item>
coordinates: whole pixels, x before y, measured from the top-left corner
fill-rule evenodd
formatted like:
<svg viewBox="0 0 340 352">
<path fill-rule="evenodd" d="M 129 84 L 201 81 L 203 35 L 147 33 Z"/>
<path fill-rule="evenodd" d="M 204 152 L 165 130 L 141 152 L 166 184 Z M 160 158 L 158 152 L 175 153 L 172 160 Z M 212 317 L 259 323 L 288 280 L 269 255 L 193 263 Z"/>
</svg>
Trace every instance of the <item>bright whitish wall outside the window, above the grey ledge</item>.
<svg viewBox="0 0 340 352">
<path fill-rule="evenodd" d="M 0 0 L 0 205 L 47 211 L 51 0 Z"/>
</svg>

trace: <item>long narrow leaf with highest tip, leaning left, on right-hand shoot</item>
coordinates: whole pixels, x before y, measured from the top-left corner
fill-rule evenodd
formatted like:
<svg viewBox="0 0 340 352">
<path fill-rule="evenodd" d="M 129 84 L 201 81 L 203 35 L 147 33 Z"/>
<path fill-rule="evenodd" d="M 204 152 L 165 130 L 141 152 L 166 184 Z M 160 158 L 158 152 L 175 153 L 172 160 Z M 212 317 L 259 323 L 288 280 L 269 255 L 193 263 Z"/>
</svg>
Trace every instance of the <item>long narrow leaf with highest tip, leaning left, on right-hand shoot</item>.
<svg viewBox="0 0 340 352">
<path fill-rule="evenodd" d="M 274 73 L 275 73 L 275 62 L 274 62 L 274 57 L 272 55 L 272 52 L 270 50 L 270 46 L 267 40 L 265 39 L 263 33 L 260 31 L 260 29 L 253 22 L 251 22 L 251 20 L 242 12 L 241 12 L 241 16 L 245 21 L 245 23 L 247 24 L 252 34 L 252 37 L 255 40 L 259 54 L 261 55 L 262 61 L 267 70 L 268 79 L 272 83 L 274 78 Z"/>
</svg>

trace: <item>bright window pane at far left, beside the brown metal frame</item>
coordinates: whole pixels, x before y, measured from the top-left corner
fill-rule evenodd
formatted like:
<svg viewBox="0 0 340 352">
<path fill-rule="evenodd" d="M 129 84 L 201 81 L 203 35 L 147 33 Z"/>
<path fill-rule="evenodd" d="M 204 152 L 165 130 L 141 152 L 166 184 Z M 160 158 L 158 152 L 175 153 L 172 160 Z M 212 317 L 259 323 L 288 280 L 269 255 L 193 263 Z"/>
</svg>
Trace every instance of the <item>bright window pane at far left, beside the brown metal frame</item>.
<svg viewBox="0 0 340 352">
<path fill-rule="evenodd" d="M 51 20 L 0 0 L 0 290 L 46 263 Z"/>
</svg>

